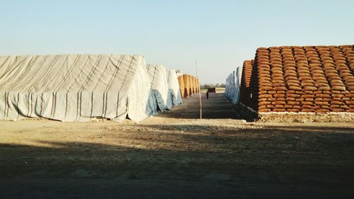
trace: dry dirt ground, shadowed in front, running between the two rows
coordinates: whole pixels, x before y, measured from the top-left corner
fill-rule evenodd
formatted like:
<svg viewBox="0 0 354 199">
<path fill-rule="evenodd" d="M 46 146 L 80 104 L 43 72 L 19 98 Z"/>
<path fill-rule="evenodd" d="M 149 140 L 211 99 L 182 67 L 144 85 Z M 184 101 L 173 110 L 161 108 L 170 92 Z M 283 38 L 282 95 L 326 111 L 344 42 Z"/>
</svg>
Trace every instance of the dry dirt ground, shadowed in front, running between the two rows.
<svg viewBox="0 0 354 199">
<path fill-rule="evenodd" d="M 353 123 L 246 123 L 223 93 L 141 123 L 0 121 L 0 198 L 353 198 Z"/>
</svg>

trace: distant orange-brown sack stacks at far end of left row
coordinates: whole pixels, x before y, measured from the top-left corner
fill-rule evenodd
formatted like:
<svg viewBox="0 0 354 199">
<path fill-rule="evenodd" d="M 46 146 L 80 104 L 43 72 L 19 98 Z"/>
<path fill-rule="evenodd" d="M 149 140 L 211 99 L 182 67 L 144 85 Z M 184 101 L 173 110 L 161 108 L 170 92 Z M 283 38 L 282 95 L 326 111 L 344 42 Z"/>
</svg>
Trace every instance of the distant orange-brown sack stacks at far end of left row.
<svg viewBox="0 0 354 199">
<path fill-rule="evenodd" d="M 181 89 L 182 98 L 199 93 L 199 79 L 189 74 L 181 74 L 178 76 L 178 84 Z"/>
</svg>

